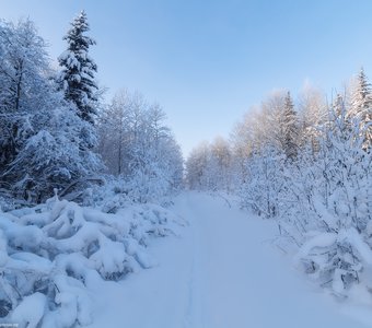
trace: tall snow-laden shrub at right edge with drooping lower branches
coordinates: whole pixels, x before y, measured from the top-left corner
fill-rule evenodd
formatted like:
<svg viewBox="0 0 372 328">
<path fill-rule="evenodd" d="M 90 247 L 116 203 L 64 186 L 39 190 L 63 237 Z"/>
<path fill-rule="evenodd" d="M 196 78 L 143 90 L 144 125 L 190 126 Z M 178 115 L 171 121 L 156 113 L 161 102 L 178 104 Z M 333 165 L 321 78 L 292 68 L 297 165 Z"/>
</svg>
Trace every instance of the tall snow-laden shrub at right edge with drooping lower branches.
<svg viewBox="0 0 372 328">
<path fill-rule="evenodd" d="M 368 284 L 361 277 L 371 268 L 372 163 L 359 127 L 345 108 L 323 127 L 318 153 L 304 153 L 290 179 L 299 200 L 290 212 L 295 229 L 280 223 L 301 246 L 304 270 L 337 295 L 347 295 L 352 283 Z"/>
</svg>

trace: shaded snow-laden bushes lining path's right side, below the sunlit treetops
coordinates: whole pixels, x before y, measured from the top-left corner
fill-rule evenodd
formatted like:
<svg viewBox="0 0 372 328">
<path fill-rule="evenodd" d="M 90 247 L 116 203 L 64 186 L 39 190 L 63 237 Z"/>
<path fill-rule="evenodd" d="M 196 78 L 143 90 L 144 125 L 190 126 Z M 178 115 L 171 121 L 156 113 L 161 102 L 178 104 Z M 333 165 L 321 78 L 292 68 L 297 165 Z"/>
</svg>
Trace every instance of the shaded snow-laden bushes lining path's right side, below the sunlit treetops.
<svg viewBox="0 0 372 328">
<path fill-rule="evenodd" d="M 297 258 L 304 271 L 339 296 L 353 283 L 371 288 L 364 272 L 372 255 L 371 153 L 358 119 L 345 113 L 345 106 L 332 112 L 328 122 L 317 127 L 316 153 L 309 144 L 294 162 L 268 153 L 251 161 L 248 172 L 254 173 L 241 195 L 258 213 L 261 204 L 275 206 L 280 247 L 300 249 Z M 271 163 L 271 174 L 257 169 L 257 163 L 264 168 Z"/>
</svg>

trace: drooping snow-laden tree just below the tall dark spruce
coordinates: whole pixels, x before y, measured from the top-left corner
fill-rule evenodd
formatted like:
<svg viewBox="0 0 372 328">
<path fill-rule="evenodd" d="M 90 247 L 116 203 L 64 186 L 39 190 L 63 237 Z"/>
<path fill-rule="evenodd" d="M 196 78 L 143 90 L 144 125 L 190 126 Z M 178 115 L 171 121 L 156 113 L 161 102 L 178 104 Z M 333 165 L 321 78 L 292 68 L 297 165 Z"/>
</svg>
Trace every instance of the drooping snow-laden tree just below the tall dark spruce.
<svg viewBox="0 0 372 328">
<path fill-rule="evenodd" d="M 102 169 L 101 159 L 80 147 L 84 142 L 81 134 L 94 136 L 91 125 L 82 121 L 75 108 L 63 104 L 61 97 L 51 97 L 49 105 L 45 108 L 48 113 L 32 117 L 34 133 L 3 173 L 4 180 L 13 183 L 11 191 L 30 201 L 43 201 L 54 189 L 62 191 L 79 179 L 75 187 L 83 189 L 88 187 L 84 178 Z"/>
</svg>

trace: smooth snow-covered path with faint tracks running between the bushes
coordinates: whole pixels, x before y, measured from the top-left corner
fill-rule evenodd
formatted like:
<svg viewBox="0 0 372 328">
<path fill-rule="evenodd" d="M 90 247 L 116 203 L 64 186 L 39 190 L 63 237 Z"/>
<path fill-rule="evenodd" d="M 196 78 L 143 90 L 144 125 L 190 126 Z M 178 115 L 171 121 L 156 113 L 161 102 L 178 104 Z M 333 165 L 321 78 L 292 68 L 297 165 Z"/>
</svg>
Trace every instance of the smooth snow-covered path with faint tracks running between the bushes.
<svg viewBox="0 0 372 328">
<path fill-rule="evenodd" d="M 368 327 L 291 270 L 267 242 L 271 223 L 199 194 L 178 197 L 175 209 L 190 226 L 154 242 L 158 267 L 93 291 L 102 297 L 92 328 Z"/>
</svg>

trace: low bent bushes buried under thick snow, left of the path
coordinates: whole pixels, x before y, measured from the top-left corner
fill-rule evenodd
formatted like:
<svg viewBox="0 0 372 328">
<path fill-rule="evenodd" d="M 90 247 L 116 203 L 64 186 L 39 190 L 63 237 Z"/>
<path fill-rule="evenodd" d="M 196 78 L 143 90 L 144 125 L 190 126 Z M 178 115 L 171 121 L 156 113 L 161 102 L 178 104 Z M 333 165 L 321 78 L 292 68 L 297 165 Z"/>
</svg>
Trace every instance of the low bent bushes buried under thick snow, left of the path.
<svg viewBox="0 0 372 328">
<path fill-rule="evenodd" d="M 0 316 L 20 327 L 90 324 L 90 286 L 153 266 L 150 238 L 182 224 L 155 204 L 104 213 L 57 197 L 0 213 Z"/>
</svg>

